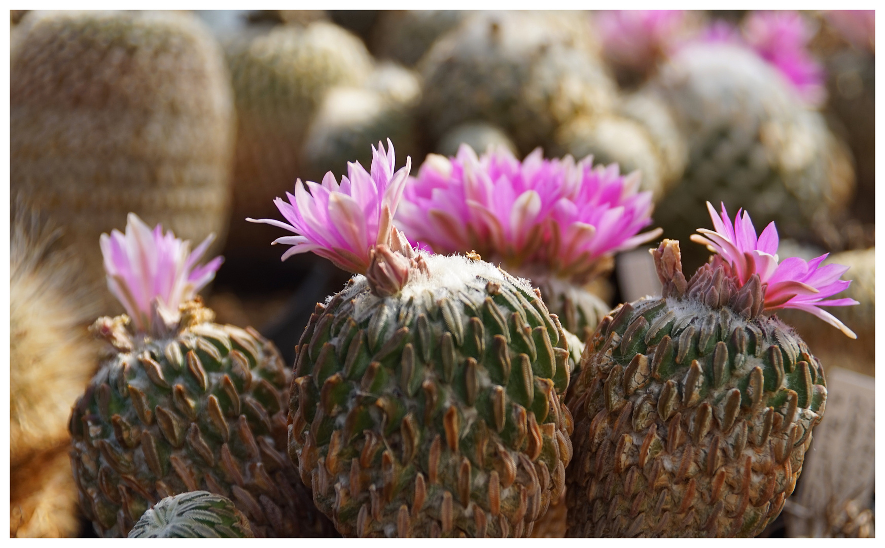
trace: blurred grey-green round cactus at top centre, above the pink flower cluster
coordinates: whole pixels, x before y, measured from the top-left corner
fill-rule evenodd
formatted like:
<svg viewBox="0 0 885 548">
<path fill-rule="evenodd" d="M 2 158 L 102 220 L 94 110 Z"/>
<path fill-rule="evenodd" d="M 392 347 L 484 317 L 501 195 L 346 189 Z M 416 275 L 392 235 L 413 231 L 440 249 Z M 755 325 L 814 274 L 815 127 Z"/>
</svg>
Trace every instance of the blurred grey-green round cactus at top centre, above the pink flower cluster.
<svg viewBox="0 0 885 548">
<path fill-rule="evenodd" d="M 432 142 L 466 121 L 504 129 L 527 154 L 574 116 L 612 108 L 615 85 L 580 15 L 489 12 L 443 35 L 419 65 Z"/>
</svg>

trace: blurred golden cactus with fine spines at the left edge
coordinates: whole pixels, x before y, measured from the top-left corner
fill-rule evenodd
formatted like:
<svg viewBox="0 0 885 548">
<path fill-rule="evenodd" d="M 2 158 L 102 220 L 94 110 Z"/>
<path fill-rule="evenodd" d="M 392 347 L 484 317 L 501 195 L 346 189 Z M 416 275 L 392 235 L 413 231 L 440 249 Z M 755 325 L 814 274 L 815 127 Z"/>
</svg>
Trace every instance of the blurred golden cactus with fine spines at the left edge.
<svg viewBox="0 0 885 548">
<path fill-rule="evenodd" d="M 71 536 L 78 522 L 67 457 L 71 404 L 93 373 L 77 281 L 58 230 L 14 212 L 10 242 L 10 536 Z M 73 288 L 73 290 L 71 289 Z"/>
</svg>

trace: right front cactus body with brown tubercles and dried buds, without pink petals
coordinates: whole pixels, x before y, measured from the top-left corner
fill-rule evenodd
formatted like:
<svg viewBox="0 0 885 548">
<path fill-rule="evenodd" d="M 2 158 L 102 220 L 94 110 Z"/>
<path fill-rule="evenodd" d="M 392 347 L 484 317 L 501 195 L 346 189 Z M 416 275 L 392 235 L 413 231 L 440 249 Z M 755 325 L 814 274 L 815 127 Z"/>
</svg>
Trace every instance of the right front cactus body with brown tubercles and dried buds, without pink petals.
<svg viewBox="0 0 885 548">
<path fill-rule="evenodd" d="M 717 302 L 705 274 L 620 305 L 588 343 L 566 399 L 569 536 L 755 536 L 793 491 L 827 399 L 820 361 L 776 316 Z"/>
</svg>

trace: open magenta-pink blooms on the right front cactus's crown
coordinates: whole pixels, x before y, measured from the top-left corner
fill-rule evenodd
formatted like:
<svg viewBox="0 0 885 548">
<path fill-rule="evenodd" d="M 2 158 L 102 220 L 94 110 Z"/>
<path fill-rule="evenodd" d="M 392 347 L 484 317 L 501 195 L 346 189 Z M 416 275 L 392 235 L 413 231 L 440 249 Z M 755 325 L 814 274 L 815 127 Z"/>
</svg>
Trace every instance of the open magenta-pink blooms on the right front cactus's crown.
<svg viewBox="0 0 885 548">
<path fill-rule="evenodd" d="M 820 263 L 827 259 L 827 253 L 810 261 L 791 257 L 779 263 L 777 256 L 779 239 L 773 222 L 769 223 L 757 238 L 756 228 L 753 227 L 748 212 L 743 212 L 742 215 L 742 210 L 738 210 L 732 226 L 725 204 L 722 205 L 720 215 L 716 214 L 710 202 L 707 202 L 707 209 L 710 211 L 715 230 L 698 228 L 697 231 L 703 235 L 692 235 L 691 241 L 706 245 L 710 251 L 718 253 L 728 262 L 739 286 L 748 282 L 753 274 L 758 274 L 759 281 L 766 288 L 766 310 L 778 308 L 804 310 L 838 328 L 852 339 L 857 338 L 842 321 L 819 308 L 858 304 L 858 301 L 851 298 L 824 300 L 847 289 L 851 284 L 850 281 L 839 279 L 848 270 L 848 266 L 820 266 Z"/>
</svg>

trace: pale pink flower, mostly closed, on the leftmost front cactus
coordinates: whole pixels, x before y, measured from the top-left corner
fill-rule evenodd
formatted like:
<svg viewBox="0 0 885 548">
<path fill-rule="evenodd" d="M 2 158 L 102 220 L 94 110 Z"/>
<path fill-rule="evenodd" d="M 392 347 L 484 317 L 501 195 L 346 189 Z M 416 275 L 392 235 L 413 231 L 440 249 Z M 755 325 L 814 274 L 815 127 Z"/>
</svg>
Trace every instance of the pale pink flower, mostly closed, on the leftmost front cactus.
<svg viewBox="0 0 885 548">
<path fill-rule="evenodd" d="M 126 308 L 136 329 L 150 327 L 155 302 L 177 313 L 179 305 L 196 297 L 212 281 L 224 259 L 216 257 L 203 266 L 196 266 L 196 262 L 214 239 L 214 234 L 208 235 L 189 252 L 189 241 L 176 238 L 171 230 L 163 234 L 160 225 L 151 231 L 135 213 L 127 217 L 125 235 L 119 230 L 101 235 L 108 288 Z"/>
</svg>

